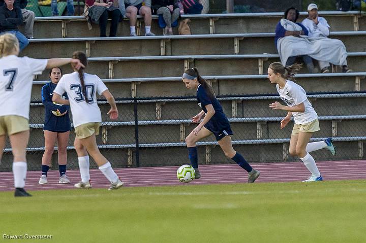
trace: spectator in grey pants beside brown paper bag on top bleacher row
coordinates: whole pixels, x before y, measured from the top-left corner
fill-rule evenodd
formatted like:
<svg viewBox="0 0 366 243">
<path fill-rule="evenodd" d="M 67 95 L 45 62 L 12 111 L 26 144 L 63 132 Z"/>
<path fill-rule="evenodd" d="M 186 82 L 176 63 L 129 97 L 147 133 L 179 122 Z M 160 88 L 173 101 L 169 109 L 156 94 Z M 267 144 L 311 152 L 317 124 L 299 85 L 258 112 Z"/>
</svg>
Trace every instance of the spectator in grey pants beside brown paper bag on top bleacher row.
<svg viewBox="0 0 366 243">
<path fill-rule="evenodd" d="M 180 15 L 180 9 L 174 2 L 174 0 L 153 0 L 154 12 L 161 14 L 166 23 L 164 36 L 173 35 L 172 23 L 174 23 Z"/>
</svg>

